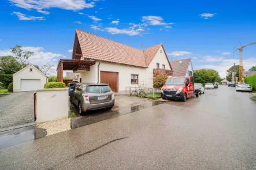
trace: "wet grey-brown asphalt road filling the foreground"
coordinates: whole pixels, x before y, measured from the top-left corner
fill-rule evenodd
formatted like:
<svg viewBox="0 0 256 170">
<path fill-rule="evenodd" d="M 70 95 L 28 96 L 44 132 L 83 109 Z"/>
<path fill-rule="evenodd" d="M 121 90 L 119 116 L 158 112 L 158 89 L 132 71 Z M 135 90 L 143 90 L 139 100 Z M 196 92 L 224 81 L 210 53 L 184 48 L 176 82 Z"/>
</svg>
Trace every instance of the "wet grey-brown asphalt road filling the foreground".
<svg viewBox="0 0 256 170">
<path fill-rule="evenodd" d="M 0 150 L 0 169 L 256 169 L 256 103 L 220 86 Z"/>
</svg>

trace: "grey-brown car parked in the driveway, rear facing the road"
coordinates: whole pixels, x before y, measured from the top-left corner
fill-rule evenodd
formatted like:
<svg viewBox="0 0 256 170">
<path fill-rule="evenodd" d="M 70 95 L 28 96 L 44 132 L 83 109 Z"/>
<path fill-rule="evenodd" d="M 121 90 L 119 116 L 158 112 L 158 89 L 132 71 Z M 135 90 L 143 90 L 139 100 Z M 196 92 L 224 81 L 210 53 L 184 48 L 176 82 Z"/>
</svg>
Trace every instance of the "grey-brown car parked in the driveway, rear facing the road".
<svg viewBox="0 0 256 170">
<path fill-rule="evenodd" d="M 108 84 L 77 83 L 69 97 L 71 103 L 78 107 L 79 114 L 94 109 L 114 106 L 114 92 Z"/>
</svg>

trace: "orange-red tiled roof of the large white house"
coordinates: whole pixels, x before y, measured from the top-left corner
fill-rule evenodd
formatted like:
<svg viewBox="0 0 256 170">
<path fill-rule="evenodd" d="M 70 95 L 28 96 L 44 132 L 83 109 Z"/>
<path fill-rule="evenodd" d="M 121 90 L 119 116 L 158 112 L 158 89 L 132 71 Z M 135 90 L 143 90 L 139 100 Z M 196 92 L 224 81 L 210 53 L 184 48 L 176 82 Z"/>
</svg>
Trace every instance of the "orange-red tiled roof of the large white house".
<svg viewBox="0 0 256 170">
<path fill-rule="evenodd" d="M 79 29 L 76 29 L 76 35 L 83 57 L 139 67 L 149 66 L 162 46 L 158 44 L 146 50 L 139 50 Z"/>
</svg>

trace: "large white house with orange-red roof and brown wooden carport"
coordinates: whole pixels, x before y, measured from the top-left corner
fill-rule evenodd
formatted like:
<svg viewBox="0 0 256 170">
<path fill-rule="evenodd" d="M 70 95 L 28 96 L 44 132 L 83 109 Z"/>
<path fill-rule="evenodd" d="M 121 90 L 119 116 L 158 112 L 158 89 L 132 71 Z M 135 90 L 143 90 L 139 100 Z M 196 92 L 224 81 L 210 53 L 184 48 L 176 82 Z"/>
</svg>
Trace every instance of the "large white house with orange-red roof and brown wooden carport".
<svg viewBox="0 0 256 170">
<path fill-rule="evenodd" d="M 139 50 L 79 29 L 75 31 L 72 59 L 58 62 L 58 81 L 62 81 L 63 70 L 80 73 L 81 82 L 109 84 L 119 93 L 139 82 L 153 88 L 153 72 L 172 74 L 163 44 Z"/>
</svg>

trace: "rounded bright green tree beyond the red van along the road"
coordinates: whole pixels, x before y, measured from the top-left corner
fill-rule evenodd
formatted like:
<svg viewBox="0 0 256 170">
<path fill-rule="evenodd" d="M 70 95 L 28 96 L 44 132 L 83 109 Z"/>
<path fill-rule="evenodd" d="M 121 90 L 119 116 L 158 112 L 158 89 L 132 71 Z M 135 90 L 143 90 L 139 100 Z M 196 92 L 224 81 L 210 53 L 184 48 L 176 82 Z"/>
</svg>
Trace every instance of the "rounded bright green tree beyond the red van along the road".
<svg viewBox="0 0 256 170">
<path fill-rule="evenodd" d="M 202 84 L 216 82 L 219 77 L 218 72 L 212 69 L 201 69 L 194 72 L 194 81 Z"/>
</svg>

